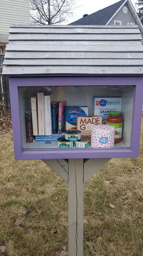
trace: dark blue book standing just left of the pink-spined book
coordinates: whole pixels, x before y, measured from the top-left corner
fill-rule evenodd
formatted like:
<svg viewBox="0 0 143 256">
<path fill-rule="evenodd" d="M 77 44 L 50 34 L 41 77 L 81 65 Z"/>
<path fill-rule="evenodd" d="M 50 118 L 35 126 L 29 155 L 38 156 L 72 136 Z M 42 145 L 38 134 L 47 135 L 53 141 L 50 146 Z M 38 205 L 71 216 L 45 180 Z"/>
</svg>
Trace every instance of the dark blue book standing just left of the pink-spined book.
<svg viewBox="0 0 143 256">
<path fill-rule="evenodd" d="M 52 132 L 58 132 L 58 103 L 59 101 L 52 102 Z"/>
</svg>

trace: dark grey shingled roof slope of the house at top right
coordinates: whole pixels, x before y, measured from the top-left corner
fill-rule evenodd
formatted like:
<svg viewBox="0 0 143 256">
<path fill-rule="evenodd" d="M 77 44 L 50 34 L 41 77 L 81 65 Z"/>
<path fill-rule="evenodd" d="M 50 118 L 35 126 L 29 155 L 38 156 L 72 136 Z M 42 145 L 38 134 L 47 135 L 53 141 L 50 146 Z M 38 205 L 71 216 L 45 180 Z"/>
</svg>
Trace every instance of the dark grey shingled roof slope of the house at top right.
<svg viewBox="0 0 143 256">
<path fill-rule="evenodd" d="M 116 13 L 125 0 L 121 0 L 113 5 L 105 7 L 95 13 L 76 20 L 69 25 L 105 25 L 108 20 Z"/>
</svg>

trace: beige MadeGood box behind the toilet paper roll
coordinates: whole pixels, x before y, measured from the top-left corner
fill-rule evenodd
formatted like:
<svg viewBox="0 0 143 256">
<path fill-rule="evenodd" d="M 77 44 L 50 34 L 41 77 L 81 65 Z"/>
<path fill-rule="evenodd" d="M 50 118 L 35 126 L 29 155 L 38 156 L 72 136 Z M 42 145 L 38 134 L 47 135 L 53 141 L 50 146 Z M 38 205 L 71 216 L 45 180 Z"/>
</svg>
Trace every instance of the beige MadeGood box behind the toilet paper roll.
<svg viewBox="0 0 143 256">
<path fill-rule="evenodd" d="M 100 115 L 93 116 L 77 116 L 77 130 L 81 131 L 81 136 L 91 139 L 91 127 L 93 125 L 102 124 L 102 117 Z"/>
</svg>

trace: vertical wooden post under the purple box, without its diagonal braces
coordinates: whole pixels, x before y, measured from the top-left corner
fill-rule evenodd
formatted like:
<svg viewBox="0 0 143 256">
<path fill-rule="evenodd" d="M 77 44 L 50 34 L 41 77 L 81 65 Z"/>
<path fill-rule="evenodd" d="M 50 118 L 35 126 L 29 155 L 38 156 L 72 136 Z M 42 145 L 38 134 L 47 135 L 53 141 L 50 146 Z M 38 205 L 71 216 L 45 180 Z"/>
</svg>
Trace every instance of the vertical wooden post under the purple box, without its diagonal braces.
<svg viewBox="0 0 143 256">
<path fill-rule="evenodd" d="M 83 256 L 83 159 L 68 159 L 68 252 Z"/>
</svg>

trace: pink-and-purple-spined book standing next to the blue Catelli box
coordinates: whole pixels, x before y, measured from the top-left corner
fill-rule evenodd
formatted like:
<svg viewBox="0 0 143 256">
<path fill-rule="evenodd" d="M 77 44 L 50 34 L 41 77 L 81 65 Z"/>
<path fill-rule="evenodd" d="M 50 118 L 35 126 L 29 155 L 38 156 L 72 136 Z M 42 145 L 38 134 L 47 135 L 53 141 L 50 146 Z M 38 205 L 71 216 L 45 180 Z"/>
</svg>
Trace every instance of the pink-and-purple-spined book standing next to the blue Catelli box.
<svg viewBox="0 0 143 256">
<path fill-rule="evenodd" d="M 58 104 L 58 132 L 64 132 L 65 127 L 65 108 L 66 100 L 60 101 Z"/>
</svg>

